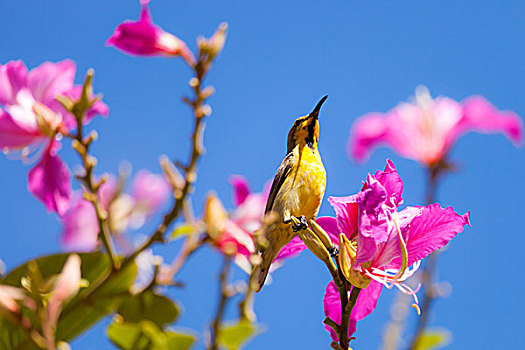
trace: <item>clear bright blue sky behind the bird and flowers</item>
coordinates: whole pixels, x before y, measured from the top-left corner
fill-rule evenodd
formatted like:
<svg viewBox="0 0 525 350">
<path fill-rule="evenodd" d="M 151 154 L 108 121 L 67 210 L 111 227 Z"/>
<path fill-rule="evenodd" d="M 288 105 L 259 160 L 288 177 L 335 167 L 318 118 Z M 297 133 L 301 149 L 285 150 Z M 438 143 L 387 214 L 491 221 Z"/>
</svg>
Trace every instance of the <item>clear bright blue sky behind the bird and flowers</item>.
<svg viewBox="0 0 525 350">
<path fill-rule="evenodd" d="M 525 3 L 522 1 L 168 1 L 153 0 L 153 18 L 195 49 L 195 38 L 227 21 L 229 37 L 208 82 L 216 94 L 193 199 L 198 211 L 208 190 L 231 205 L 228 177 L 242 174 L 260 190 L 284 156 L 293 120 L 325 94 L 320 152 L 328 173 L 326 195 L 359 190 L 366 173 L 391 158 L 405 181 L 405 203 L 422 204 L 424 174 L 390 150 L 364 164 L 345 153 L 349 128 L 360 115 L 386 111 L 418 84 L 461 100 L 481 94 L 500 109 L 525 115 Z M 185 159 L 191 118 L 180 98 L 190 71 L 180 60 L 132 58 L 105 40 L 124 19 L 137 18 L 138 1 L 0 0 L 0 63 L 29 67 L 72 58 L 77 80 L 93 67 L 95 89 L 111 109 L 91 126 L 99 172 L 122 160 L 135 171 L 158 171 L 159 155 Z M 61 155 L 75 168 L 76 155 Z M 441 256 L 439 277 L 452 294 L 436 304 L 431 324 L 453 333 L 450 349 L 521 348 L 525 304 L 519 278 L 525 266 L 523 173 L 525 154 L 502 135 L 468 134 L 451 158 L 460 170 L 438 192 L 443 206 L 471 211 L 467 228 Z M 0 259 L 13 268 L 30 257 L 57 252 L 60 227 L 26 190 L 29 167 L 0 158 Z M 325 200 L 322 215 L 332 215 Z M 147 231 L 146 231 L 147 232 Z M 170 260 L 177 246 L 160 250 Z M 213 316 L 220 257 L 204 249 L 181 273 L 187 284 L 168 293 L 181 300 L 177 326 L 201 331 Z M 244 277 L 237 272 L 236 276 Z M 327 348 L 321 321 L 329 274 L 305 252 L 286 263 L 256 300 L 266 332 L 250 349 Z M 358 324 L 356 349 L 377 348 L 395 291 Z M 228 318 L 236 317 L 235 303 Z M 414 316 L 414 315 L 412 315 Z M 411 318 L 412 321 L 414 317 Z M 75 349 L 111 348 L 107 322 L 73 343 Z M 408 330 L 407 332 L 409 332 Z M 202 339 L 202 338 L 201 338 Z M 202 343 L 199 345 L 202 346 Z"/>
</svg>

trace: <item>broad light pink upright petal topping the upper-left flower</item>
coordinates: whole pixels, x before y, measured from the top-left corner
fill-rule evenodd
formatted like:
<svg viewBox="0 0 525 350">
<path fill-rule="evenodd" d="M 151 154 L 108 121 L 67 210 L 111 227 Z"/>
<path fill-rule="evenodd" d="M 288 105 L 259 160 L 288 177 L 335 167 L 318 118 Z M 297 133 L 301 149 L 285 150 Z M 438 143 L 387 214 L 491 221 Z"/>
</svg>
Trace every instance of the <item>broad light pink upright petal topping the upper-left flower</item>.
<svg viewBox="0 0 525 350">
<path fill-rule="evenodd" d="M 75 71 L 72 60 L 45 62 L 29 72 L 28 87 L 37 101 L 48 104 L 56 96 L 71 90 Z"/>
</svg>

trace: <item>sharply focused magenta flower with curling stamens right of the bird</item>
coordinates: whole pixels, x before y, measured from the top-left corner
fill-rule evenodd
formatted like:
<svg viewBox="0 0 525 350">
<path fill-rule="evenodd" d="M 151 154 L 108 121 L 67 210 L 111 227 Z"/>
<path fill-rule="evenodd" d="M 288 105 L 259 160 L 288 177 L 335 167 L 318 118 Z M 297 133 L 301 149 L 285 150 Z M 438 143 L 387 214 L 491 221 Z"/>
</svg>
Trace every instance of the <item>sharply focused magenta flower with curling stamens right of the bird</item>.
<svg viewBox="0 0 525 350">
<path fill-rule="evenodd" d="M 418 309 L 415 291 L 403 282 L 418 269 L 421 259 L 445 246 L 465 225 L 470 225 L 470 213 L 458 215 L 452 208 L 444 209 L 437 203 L 398 212 L 402 192 L 403 181 L 388 160 L 384 171 L 368 175 L 359 193 L 328 199 L 336 212 L 335 218 L 317 220 L 334 242 L 340 234 L 350 241 L 350 251 L 346 253 L 351 268 L 360 276 L 360 282 L 370 283 L 352 311 L 349 336 L 355 331 L 355 323 L 375 308 L 382 286 L 389 289 L 396 286 L 412 295 Z M 339 299 L 337 289 L 329 285 L 325 314 L 337 322 L 340 307 L 334 305 L 335 299 Z"/>
</svg>

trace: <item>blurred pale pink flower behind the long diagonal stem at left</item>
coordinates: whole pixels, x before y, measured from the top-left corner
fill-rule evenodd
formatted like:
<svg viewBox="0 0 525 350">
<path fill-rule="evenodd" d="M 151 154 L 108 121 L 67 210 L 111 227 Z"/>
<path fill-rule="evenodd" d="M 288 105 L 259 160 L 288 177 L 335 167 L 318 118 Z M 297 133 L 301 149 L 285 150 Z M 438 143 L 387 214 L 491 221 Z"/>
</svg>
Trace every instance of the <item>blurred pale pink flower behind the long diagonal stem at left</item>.
<svg viewBox="0 0 525 350">
<path fill-rule="evenodd" d="M 117 193 L 118 182 L 109 176 L 99 190 L 102 208 L 108 212 L 109 228 L 120 234 L 138 229 L 166 202 L 170 188 L 162 175 L 141 170 L 135 175 L 132 194 Z M 98 245 L 99 224 L 93 204 L 80 192 L 62 217 L 62 246 L 67 251 L 87 252 Z"/>
</svg>

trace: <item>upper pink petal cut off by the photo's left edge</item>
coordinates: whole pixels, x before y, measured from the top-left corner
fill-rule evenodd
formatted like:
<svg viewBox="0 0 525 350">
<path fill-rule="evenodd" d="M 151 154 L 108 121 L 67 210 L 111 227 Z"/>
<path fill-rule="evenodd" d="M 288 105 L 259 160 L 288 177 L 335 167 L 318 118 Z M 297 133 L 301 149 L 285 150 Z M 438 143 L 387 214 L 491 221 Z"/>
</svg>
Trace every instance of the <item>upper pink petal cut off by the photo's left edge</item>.
<svg viewBox="0 0 525 350">
<path fill-rule="evenodd" d="M 16 104 L 16 95 L 26 84 L 27 67 L 24 62 L 18 60 L 0 65 L 0 104 Z"/>
</svg>

